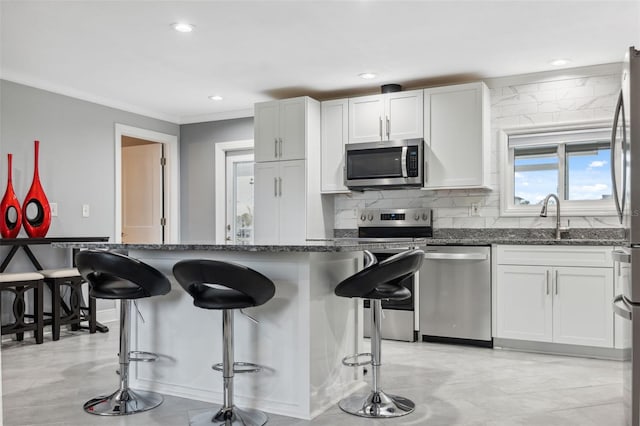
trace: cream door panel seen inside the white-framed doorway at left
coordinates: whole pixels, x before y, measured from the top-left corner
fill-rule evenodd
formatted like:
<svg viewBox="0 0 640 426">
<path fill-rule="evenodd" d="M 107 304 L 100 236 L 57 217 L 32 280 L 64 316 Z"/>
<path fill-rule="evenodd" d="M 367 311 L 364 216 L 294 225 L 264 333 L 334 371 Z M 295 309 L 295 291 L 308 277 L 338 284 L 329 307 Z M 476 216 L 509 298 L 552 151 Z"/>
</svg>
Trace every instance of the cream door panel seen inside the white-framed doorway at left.
<svg viewBox="0 0 640 426">
<path fill-rule="evenodd" d="M 122 147 L 122 242 L 163 242 L 162 144 Z"/>
</svg>

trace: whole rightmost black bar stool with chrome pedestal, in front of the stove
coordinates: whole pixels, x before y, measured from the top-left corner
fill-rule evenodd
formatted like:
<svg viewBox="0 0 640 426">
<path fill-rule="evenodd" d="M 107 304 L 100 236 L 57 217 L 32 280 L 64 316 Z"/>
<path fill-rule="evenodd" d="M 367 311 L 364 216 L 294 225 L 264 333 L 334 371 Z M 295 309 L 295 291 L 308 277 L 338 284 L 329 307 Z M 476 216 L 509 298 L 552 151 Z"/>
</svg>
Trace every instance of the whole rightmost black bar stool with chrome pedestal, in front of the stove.
<svg viewBox="0 0 640 426">
<path fill-rule="evenodd" d="M 378 262 L 374 255 L 365 251 L 365 268 L 342 281 L 335 289 L 336 296 L 361 297 L 371 300 L 371 353 L 345 357 L 342 363 L 356 367 L 371 364 L 371 390 L 365 395 L 352 395 L 342 399 L 339 407 L 361 417 L 400 417 L 413 412 L 413 401 L 385 393 L 380 386 L 382 300 L 404 300 L 411 292 L 401 282 L 415 274 L 424 259 L 422 250 L 408 250 Z M 369 360 L 358 361 L 368 356 Z M 354 361 L 352 361 L 354 360 Z"/>
</svg>

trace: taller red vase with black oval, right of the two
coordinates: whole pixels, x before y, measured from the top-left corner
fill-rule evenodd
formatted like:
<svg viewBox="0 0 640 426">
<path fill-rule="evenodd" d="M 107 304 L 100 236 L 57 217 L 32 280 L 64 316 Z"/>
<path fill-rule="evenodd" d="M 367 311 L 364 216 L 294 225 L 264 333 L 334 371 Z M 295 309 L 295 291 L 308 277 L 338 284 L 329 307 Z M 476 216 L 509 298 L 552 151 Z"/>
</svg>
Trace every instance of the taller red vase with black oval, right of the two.
<svg viewBox="0 0 640 426">
<path fill-rule="evenodd" d="M 24 230 L 29 237 L 43 238 L 47 235 L 47 231 L 51 225 L 51 207 L 49 206 L 47 196 L 44 195 L 44 190 L 40 183 L 40 175 L 38 174 L 40 141 L 34 141 L 34 145 L 35 161 L 33 165 L 33 182 L 22 203 L 22 226 L 24 226 Z M 36 209 L 35 214 L 33 214 L 33 207 Z"/>
</svg>

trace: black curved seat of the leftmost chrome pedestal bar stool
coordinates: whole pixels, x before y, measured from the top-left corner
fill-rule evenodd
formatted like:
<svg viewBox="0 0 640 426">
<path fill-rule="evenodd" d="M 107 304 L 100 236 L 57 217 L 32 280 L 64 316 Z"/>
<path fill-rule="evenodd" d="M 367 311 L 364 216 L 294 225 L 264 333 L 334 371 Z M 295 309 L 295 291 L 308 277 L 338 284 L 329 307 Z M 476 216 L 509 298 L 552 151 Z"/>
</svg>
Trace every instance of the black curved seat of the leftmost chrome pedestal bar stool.
<svg viewBox="0 0 640 426">
<path fill-rule="evenodd" d="M 91 283 L 89 295 L 98 299 L 140 299 L 171 290 L 171 283 L 160 271 L 123 254 L 84 250 L 76 255 L 76 264 Z"/>
</svg>

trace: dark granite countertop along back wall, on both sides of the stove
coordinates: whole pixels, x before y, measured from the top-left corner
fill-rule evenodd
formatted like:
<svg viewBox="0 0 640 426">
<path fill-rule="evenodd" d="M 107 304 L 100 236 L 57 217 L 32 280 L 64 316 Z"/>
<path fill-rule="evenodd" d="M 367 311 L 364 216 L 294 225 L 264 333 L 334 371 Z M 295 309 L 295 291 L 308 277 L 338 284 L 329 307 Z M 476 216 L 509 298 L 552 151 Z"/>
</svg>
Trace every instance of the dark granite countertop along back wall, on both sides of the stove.
<svg viewBox="0 0 640 426">
<path fill-rule="evenodd" d="M 337 229 L 336 237 L 357 236 L 356 229 Z M 433 238 L 427 238 L 429 246 L 491 244 L 530 245 L 586 245 L 624 246 L 624 229 L 620 228 L 575 228 L 555 239 L 552 228 L 440 228 L 433 230 Z"/>
</svg>

